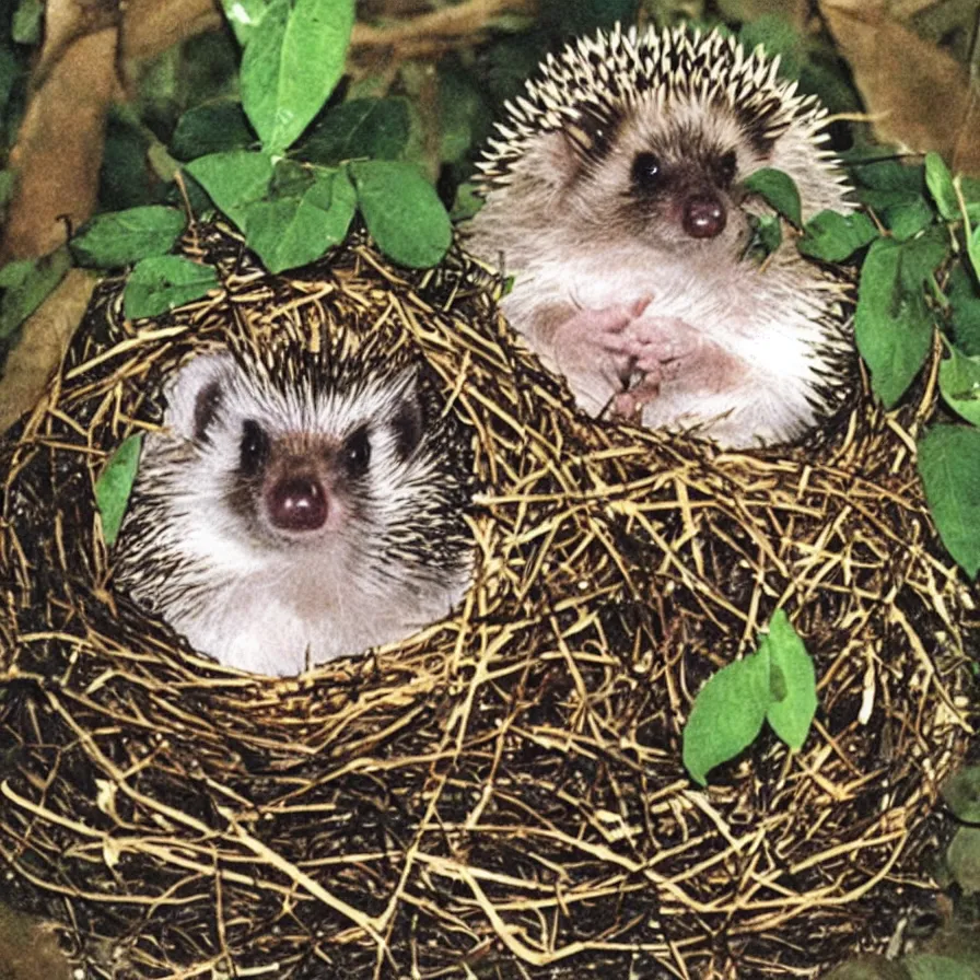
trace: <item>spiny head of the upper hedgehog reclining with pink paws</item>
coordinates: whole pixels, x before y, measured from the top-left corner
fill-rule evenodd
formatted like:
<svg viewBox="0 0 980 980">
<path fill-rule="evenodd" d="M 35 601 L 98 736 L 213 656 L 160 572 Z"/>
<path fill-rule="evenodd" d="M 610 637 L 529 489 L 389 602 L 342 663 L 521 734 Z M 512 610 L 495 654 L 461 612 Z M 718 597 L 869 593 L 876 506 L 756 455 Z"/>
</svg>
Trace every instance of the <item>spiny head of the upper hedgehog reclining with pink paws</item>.
<svg viewBox="0 0 980 980">
<path fill-rule="evenodd" d="M 779 59 L 733 37 L 677 28 L 583 37 L 548 56 L 508 104 L 478 166 L 487 205 L 476 250 L 515 270 L 555 248 L 656 248 L 658 258 L 740 255 L 739 182 L 785 171 L 804 219 L 848 209 L 821 149 L 826 112 L 779 78 Z"/>
</svg>

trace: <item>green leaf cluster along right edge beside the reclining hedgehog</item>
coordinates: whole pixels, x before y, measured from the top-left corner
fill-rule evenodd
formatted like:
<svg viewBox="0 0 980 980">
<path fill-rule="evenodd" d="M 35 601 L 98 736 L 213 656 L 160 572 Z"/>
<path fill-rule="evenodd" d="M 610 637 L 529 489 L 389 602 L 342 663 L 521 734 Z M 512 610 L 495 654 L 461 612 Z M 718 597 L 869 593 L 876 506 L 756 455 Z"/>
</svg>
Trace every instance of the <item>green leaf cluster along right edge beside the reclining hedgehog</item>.
<svg viewBox="0 0 980 980">
<path fill-rule="evenodd" d="M 879 151 L 878 151 L 879 152 Z M 854 335 L 872 387 L 894 408 L 925 365 L 938 327 L 945 349 L 940 394 L 948 421 L 919 439 L 919 472 L 943 544 L 970 579 L 980 572 L 980 182 L 954 177 L 929 153 L 909 166 L 891 158 L 852 162 L 865 210 L 822 211 L 805 224 L 800 195 L 780 171 L 746 187 L 798 230 L 796 247 L 830 264 L 861 260 Z M 760 223 L 772 252 L 778 219 Z"/>
</svg>

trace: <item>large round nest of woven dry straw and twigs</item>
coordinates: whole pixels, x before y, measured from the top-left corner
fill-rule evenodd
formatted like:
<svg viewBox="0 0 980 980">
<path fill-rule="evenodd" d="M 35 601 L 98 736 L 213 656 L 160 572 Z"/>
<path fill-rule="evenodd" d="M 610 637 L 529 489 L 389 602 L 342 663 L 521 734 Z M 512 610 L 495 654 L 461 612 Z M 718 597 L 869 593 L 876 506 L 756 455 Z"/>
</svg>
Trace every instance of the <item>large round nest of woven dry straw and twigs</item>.
<svg viewBox="0 0 980 980">
<path fill-rule="evenodd" d="M 220 292 L 132 324 L 107 284 L 2 451 L 0 848 L 90 976 L 812 977 L 880 948 L 932 890 L 976 721 L 977 596 L 908 431 L 931 382 L 901 418 L 863 399 L 819 445 L 722 454 L 576 413 L 459 254 L 406 272 L 355 240 L 290 279 L 218 230 L 188 249 Z M 93 481 L 189 350 L 378 335 L 472 434 L 456 617 L 272 680 L 114 594 Z M 691 700 L 778 606 L 814 727 L 699 789 Z"/>
</svg>

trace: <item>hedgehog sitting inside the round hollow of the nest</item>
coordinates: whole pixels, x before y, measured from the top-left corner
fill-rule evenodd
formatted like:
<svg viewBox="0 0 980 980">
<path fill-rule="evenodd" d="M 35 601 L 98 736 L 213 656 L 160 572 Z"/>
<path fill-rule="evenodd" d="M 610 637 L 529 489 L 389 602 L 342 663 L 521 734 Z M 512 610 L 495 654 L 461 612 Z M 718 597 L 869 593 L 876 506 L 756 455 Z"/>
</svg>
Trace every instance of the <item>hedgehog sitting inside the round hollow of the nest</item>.
<svg viewBox="0 0 980 980">
<path fill-rule="evenodd" d="M 462 423 L 419 365 L 323 361 L 198 353 L 144 438 L 115 584 L 228 666 L 295 674 L 405 639 L 469 584 Z"/>
</svg>

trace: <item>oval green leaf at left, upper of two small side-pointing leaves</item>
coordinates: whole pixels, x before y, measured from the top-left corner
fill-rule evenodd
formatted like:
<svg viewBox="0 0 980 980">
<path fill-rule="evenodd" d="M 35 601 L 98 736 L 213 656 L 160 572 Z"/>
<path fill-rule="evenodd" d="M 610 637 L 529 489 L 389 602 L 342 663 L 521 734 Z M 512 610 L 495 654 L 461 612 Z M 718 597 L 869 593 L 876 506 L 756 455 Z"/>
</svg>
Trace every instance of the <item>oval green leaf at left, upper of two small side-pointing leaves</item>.
<svg viewBox="0 0 980 980">
<path fill-rule="evenodd" d="M 79 265 L 112 269 L 170 252 L 185 224 L 180 211 L 161 205 L 110 211 L 86 222 L 70 247 Z"/>
</svg>

